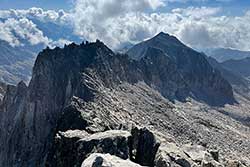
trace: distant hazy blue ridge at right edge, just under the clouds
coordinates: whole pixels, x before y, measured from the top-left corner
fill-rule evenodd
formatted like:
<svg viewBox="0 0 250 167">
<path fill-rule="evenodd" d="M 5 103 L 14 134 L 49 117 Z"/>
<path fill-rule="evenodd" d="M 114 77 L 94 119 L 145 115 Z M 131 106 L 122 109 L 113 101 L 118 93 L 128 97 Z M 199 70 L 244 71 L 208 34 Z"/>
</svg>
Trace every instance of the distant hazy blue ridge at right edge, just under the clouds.
<svg viewBox="0 0 250 167">
<path fill-rule="evenodd" d="M 206 51 L 206 54 L 210 57 L 215 58 L 218 62 L 224 62 L 227 60 L 240 60 L 247 57 L 250 57 L 249 51 L 240 51 L 240 50 L 233 50 L 233 49 L 213 49 Z"/>
</svg>

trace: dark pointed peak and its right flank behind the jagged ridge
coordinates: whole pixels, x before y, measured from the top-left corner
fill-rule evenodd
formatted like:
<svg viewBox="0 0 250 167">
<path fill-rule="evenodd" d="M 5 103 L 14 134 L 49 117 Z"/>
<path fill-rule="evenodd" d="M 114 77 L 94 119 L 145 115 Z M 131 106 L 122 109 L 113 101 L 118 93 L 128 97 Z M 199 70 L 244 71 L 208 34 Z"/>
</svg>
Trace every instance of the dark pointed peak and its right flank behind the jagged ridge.
<svg viewBox="0 0 250 167">
<path fill-rule="evenodd" d="M 186 82 L 193 98 L 210 105 L 234 102 L 231 85 L 211 67 L 206 57 L 185 46 L 174 36 L 161 32 L 154 38 L 135 45 L 127 54 L 132 59 L 140 60 L 145 55 L 155 55 L 156 50 L 175 64 L 176 71 Z"/>
</svg>

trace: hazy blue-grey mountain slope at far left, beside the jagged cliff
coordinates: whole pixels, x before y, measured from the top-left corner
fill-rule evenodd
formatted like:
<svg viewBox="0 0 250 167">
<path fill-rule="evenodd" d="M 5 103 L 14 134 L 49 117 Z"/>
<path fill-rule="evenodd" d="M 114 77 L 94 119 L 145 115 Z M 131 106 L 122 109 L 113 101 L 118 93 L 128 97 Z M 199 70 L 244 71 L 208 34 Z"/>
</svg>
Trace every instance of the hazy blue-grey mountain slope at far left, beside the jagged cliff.
<svg viewBox="0 0 250 167">
<path fill-rule="evenodd" d="M 33 52 L 0 41 L 0 81 L 9 84 L 17 84 L 21 80 L 28 82 L 34 60 Z"/>
</svg>

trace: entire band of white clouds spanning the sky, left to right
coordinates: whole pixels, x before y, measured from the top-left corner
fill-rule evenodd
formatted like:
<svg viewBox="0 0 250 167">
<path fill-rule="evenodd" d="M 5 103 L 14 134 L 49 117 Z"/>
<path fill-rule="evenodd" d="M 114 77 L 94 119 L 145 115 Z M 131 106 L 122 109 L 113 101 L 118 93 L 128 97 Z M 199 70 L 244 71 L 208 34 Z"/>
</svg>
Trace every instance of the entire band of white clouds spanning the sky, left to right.
<svg viewBox="0 0 250 167">
<path fill-rule="evenodd" d="M 188 1 L 199 0 L 185 2 Z M 75 0 L 74 9 L 68 13 L 40 8 L 0 11 L 0 39 L 13 46 L 21 45 L 22 39 L 31 45 L 70 42 L 65 39 L 54 41 L 45 36 L 32 21 L 36 18 L 44 23 L 72 26 L 74 34 L 82 39 L 100 39 L 114 49 L 163 31 L 196 49 L 250 50 L 250 10 L 242 16 L 224 16 L 223 8 L 205 6 L 164 12 L 164 7 L 172 2 L 184 3 L 180 0 Z"/>
</svg>

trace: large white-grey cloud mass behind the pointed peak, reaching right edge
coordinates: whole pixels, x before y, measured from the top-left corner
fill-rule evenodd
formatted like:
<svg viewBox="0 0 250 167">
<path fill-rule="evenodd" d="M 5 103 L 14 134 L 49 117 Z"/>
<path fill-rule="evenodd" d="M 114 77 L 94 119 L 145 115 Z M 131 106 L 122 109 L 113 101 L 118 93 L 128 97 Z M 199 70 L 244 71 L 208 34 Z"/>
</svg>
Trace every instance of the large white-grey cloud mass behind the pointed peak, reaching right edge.
<svg viewBox="0 0 250 167">
<path fill-rule="evenodd" d="M 75 33 L 91 41 L 99 38 L 113 48 L 164 31 L 198 49 L 250 50 L 250 11 L 238 17 L 222 16 L 221 8 L 211 7 L 156 12 L 173 1 L 178 0 L 77 0 L 72 14 Z"/>
</svg>

